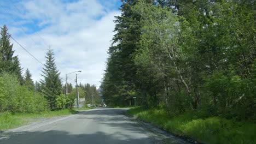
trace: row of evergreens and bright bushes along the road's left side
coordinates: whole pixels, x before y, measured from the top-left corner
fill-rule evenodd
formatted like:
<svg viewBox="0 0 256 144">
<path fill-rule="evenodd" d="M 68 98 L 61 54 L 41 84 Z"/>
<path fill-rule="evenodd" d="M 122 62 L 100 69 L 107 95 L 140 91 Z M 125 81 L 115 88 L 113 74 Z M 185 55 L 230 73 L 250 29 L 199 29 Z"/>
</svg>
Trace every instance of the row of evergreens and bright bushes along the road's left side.
<svg viewBox="0 0 256 144">
<path fill-rule="evenodd" d="M 53 49 L 48 49 L 46 53 L 42 79 L 34 83 L 30 70 L 26 69 L 22 75 L 23 68 L 20 66 L 18 56 L 14 55 L 10 38 L 8 28 L 4 25 L 0 36 L 0 112 L 33 113 L 72 107 L 76 90 L 69 83 L 68 94 L 64 94 L 65 86 L 62 86 Z M 80 98 L 85 98 L 86 103 L 102 103 L 94 85 L 80 84 L 79 92 Z M 95 97 L 94 101 L 91 100 L 92 95 Z"/>
</svg>

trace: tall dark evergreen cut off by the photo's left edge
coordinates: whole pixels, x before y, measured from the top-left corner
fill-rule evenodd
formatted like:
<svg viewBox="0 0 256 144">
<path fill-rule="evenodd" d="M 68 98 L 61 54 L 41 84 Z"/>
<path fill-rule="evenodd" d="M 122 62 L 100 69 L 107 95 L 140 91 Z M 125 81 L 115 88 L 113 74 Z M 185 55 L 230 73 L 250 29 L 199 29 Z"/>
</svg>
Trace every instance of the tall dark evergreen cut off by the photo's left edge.
<svg viewBox="0 0 256 144">
<path fill-rule="evenodd" d="M 10 34 L 7 26 L 3 26 L 0 38 L 0 73 L 6 71 L 18 76 L 22 84 L 22 68 L 18 56 L 14 55 L 13 44 L 10 44 Z"/>
</svg>

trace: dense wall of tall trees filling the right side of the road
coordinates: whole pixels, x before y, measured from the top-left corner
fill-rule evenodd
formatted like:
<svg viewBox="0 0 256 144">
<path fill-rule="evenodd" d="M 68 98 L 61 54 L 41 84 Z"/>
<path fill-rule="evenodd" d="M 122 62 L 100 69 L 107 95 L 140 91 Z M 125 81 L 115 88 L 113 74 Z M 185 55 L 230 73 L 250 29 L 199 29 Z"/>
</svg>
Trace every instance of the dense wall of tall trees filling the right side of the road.
<svg viewBox="0 0 256 144">
<path fill-rule="evenodd" d="M 255 119 L 254 1 L 123 0 L 102 94 L 108 105 Z"/>
</svg>

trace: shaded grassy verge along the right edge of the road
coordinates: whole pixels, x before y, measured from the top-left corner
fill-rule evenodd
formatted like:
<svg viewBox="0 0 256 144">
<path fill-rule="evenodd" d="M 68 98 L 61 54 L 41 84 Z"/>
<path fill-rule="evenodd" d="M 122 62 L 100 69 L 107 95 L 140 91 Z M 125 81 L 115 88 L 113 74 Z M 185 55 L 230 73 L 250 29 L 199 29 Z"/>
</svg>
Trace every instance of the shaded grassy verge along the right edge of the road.
<svg viewBox="0 0 256 144">
<path fill-rule="evenodd" d="M 145 110 L 140 107 L 130 109 L 127 113 L 170 133 L 188 136 L 203 143 L 256 143 L 255 123 L 204 117 L 202 113 L 192 112 L 170 117 L 163 110 Z"/>
</svg>

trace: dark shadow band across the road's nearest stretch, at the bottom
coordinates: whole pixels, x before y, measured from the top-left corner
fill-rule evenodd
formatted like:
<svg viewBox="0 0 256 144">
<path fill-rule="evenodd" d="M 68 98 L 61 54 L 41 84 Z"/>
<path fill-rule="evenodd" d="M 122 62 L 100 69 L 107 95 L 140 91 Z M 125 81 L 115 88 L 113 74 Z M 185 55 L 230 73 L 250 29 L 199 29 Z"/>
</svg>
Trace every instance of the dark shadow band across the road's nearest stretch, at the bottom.
<svg viewBox="0 0 256 144">
<path fill-rule="evenodd" d="M 10 138 L 0 140 L 0 143 L 146 143 L 147 138 L 133 139 L 132 137 L 125 136 L 119 137 L 115 134 L 106 134 L 98 131 L 94 134 L 70 134 L 66 131 L 33 131 L 33 132 L 21 132 L 10 133 Z M 14 136 L 15 135 L 15 136 Z"/>
</svg>

